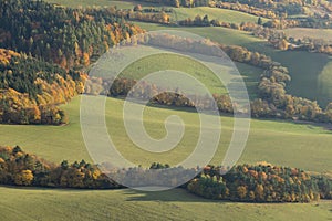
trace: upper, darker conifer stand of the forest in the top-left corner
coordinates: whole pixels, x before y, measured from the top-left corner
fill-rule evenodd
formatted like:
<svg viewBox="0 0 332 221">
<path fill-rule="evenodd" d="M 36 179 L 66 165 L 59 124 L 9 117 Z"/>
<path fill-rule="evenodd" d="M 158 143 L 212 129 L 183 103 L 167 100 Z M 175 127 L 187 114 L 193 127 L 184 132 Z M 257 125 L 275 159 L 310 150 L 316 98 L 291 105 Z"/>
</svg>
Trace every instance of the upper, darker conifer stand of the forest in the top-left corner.
<svg viewBox="0 0 332 221">
<path fill-rule="evenodd" d="M 113 9 L 70 9 L 30 0 L 0 1 L 0 48 L 63 67 L 86 66 L 110 46 L 142 32 Z"/>
</svg>

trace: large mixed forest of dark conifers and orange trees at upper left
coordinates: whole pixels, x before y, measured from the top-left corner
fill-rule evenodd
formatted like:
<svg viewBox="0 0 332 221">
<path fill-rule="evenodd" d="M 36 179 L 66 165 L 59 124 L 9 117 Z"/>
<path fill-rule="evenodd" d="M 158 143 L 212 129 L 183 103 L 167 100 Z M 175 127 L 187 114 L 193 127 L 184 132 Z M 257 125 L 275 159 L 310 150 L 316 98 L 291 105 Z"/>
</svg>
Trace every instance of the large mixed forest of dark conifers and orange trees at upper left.
<svg viewBox="0 0 332 221">
<path fill-rule="evenodd" d="M 43 1 L 1 0 L 0 20 L 0 122 L 6 124 L 66 124 L 58 106 L 83 93 L 83 67 L 142 32 L 111 9 Z"/>
</svg>

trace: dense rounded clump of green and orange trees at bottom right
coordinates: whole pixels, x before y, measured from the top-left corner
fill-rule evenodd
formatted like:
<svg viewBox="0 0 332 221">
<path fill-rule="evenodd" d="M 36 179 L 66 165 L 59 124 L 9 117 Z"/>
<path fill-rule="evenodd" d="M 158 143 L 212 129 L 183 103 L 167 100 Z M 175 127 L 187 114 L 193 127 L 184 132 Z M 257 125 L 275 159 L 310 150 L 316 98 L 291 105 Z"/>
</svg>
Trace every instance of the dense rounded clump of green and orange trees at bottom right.
<svg viewBox="0 0 332 221">
<path fill-rule="evenodd" d="M 208 166 L 189 181 L 187 189 L 209 199 L 250 202 L 310 202 L 331 199 L 332 181 L 311 177 L 301 169 L 269 164 L 240 165 L 226 175 Z"/>
</svg>

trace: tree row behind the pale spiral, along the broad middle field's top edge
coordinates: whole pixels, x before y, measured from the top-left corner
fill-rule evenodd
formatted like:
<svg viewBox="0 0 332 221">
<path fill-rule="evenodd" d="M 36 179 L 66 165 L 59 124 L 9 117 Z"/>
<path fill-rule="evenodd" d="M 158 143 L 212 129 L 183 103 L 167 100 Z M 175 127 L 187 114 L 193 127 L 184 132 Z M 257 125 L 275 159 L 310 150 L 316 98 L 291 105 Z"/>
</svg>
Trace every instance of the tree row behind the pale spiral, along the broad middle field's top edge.
<svg viewBox="0 0 332 221">
<path fill-rule="evenodd" d="M 176 92 L 165 92 L 166 88 L 149 82 L 141 82 L 126 77 L 103 80 L 91 77 L 86 81 L 85 93 L 91 95 L 107 95 L 112 97 L 131 97 L 135 99 L 149 99 L 151 104 L 176 107 L 196 107 L 199 109 L 219 109 L 222 113 L 232 113 L 232 103 L 226 94 L 212 94 L 214 101 L 208 96 L 185 94 L 177 88 Z"/>
</svg>

